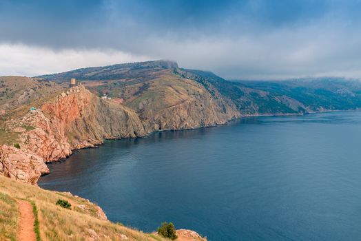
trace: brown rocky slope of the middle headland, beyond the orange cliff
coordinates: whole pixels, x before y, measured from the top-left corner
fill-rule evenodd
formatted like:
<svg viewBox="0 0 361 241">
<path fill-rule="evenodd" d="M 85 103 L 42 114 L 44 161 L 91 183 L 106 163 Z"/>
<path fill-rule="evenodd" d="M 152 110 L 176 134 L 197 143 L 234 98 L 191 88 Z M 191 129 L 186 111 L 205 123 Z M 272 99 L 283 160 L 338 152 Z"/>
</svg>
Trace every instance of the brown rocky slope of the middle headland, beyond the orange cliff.
<svg viewBox="0 0 361 241">
<path fill-rule="evenodd" d="M 121 96 L 154 131 L 207 127 L 240 117 L 233 103 L 216 94 L 200 83 L 174 75 L 172 70 L 163 70 L 151 80 L 124 86 Z"/>
</svg>

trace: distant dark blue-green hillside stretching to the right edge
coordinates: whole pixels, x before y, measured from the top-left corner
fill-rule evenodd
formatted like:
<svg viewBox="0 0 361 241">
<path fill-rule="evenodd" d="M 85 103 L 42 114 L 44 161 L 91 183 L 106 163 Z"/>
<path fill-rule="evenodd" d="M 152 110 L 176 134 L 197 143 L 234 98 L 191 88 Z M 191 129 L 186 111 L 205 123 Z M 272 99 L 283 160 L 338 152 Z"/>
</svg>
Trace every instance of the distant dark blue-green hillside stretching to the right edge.
<svg viewBox="0 0 361 241">
<path fill-rule="evenodd" d="M 187 70 L 196 81 L 213 85 L 243 115 L 307 114 L 358 109 L 361 82 L 344 78 L 289 81 L 225 81 L 212 72 Z"/>
</svg>

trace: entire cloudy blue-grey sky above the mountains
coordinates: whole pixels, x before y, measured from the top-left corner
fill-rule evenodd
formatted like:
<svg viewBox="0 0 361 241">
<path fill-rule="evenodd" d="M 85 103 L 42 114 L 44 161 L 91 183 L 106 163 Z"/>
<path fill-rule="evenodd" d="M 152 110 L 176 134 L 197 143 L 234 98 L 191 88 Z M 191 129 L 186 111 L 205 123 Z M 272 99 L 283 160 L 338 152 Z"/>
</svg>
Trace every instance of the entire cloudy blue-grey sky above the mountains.
<svg viewBox="0 0 361 241">
<path fill-rule="evenodd" d="M 359 0 L 1 0 L 0 76 L 169 59 L 223 78 L 361 78 Z"/>
</svg>

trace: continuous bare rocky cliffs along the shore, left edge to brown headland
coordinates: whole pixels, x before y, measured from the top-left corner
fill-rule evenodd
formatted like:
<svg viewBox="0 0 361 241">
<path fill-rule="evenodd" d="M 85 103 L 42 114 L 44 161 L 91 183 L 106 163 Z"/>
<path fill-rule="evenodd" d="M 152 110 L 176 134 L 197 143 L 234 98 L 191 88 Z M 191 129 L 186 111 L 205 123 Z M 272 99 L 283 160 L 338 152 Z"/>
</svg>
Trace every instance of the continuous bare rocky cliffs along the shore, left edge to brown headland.
<svg viewBox="0 0 361 241">
<path fill-rule="evenodd" d="M 132 96 L 122 103 L 99 98 L 78 85 L 37 100 L 37 109 L 29 109 L 32 103 L 13 109 L 0 127 L 0 173 L 35 184 L 39 176 L 48 173 L 44 162 L 66 158 L 74 149 L 100 145 L 104 139 L 207 127 L 239 116 L 234 105 L 215 98 L 203 85 L 182 78 L 158 76 L 129 91 Z M 11 147 L 14 143 L 19 149 Z"/>
</svg>

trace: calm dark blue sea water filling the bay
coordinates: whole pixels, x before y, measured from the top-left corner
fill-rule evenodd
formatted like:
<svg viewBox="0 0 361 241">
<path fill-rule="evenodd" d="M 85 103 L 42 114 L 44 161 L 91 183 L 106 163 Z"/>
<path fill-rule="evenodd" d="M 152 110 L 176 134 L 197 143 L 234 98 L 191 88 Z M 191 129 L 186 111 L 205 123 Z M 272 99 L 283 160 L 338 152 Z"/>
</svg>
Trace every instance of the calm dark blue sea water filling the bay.
<svg viewBox="0 0 361 241">
<path fill-rule="evenodd" d="M 361 112 L 245 118 L 107 141 L 50 164 L 39 185 L 112 221 L 163 221 L 209 240 L 361 240 Z"/>
</svg>

